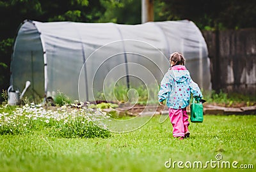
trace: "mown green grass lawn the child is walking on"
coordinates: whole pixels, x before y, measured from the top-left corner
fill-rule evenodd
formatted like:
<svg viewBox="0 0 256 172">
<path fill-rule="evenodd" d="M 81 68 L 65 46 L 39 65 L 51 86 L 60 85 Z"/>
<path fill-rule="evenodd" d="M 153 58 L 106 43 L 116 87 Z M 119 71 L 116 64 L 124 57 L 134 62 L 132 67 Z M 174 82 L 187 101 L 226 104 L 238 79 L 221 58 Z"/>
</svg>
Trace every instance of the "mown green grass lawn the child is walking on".
<svg viewBox="0 0 256 172">
<path fill-rule="evenodd" d="M 134 132 L 113 133 L 105 139 L 54 138 L 47 131 L 3 135 L 0 168 L 1 171 L 188 171 L 177 166 L 167 169 L 164 162 L 171 158 L 204 163 L 216 161 L 216 154 L 223 156 L 222 161 L 253 164 L 256 168 L 255 126 L 255 115 L 205 115 L 202 124 L 190 125 L 191 137 L 180 141 L 172 138 L 170 120 L 160 124 L 157 116 Z M 210 165 L 202 170 L 238 171 L 213 169 Z"/>
</svg>

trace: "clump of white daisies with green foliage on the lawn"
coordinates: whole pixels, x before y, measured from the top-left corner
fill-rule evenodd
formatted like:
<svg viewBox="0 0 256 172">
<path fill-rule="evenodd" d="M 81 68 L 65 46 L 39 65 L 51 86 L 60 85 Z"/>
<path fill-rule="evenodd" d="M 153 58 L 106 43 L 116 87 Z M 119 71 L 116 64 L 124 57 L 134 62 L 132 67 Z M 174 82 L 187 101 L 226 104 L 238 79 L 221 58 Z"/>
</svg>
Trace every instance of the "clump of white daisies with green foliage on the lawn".
<svg viewBox="0 0 256 172">
<path fill-rule="evenodd" d="M 47 130 L 58 138 L 107 138 L 111 134 L 104 120 L 108 118 L 99 109 L 85 106 L 64 105 L 56 110 L 45 110 L 34 103 L 22 107 L 6 105 L 0 108 L 0 135 Z"/>
</svg>

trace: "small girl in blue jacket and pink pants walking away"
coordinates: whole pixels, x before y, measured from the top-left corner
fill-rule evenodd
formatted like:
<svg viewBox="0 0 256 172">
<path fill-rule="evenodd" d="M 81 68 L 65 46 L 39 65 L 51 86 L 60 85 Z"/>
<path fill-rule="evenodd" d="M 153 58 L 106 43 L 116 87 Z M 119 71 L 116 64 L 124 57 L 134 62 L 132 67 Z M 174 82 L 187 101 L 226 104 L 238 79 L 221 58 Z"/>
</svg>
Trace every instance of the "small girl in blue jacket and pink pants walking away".
<svg viewBox="0 0 256 172">
<path fill-rule="evenodd" d="M 183 140 L 189 137 L 189 121 L 186 107 L 189 106 L 191 93 L 196 99 L 202 98 L 202 92 L 193 82 L 186 69 L 185 59 L 179 52 L 170 55 L 171 68 L 164 75 L 158 93 L 159 104 L 169 108 L 169 117 L 173 126 L 173 137 Z"/>
</svg>

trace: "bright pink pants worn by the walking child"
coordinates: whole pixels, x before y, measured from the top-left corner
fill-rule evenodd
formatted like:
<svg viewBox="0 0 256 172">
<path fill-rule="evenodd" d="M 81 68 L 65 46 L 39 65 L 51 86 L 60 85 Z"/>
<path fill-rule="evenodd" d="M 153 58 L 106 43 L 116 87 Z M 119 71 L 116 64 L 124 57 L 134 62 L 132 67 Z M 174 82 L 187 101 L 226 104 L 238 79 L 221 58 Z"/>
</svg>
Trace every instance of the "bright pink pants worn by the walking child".
<svg viewBox="0 0 256 172">
<path fill-rule="evenodd" d="M 173 127 L 173 137 L 184 137 L 184 126 L 188 126 L 188 114 L 186 108 L 175 110 L 169 108 L 169 117 Z"/>
</svg>

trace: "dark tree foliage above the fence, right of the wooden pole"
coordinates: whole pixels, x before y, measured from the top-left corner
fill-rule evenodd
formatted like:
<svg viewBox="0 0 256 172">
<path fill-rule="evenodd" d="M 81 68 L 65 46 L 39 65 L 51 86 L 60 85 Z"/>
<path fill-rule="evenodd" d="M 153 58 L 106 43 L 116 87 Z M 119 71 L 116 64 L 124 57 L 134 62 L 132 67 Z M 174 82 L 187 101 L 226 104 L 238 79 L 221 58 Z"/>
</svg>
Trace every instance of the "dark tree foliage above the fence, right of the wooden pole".
<svg viewBox="0 0 256 172">
<path fill-rule="evenodd" d="M 188 19 L 200 29 L 256 27 L 254 0 L 158 0 L 159 20 Z"/>
</svg>

